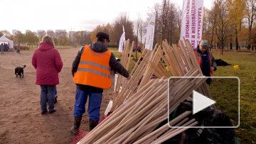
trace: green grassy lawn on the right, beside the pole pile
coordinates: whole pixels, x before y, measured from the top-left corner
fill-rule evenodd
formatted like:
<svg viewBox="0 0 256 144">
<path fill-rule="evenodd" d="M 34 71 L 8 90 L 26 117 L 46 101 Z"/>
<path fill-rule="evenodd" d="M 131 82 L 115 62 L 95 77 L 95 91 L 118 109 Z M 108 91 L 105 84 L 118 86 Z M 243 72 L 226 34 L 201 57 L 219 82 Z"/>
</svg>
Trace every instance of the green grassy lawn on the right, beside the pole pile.
<svg viewBox="0 0 256 144">
<path fill-rule="evenodd" d="M 240 143 L 256 143 L 256 55 L 250 55 L 250 52 L 224 52 L 220 55 L 220 59 L 228 62 L 230 65 L 225 67 L 218 67 L 218 70 L 213 72 L 215 77 L 239 77 L 240 79 L 240 126 L 235 129 Z M 218 59 L 218 52 L 213 51 L 213 56 Z M 233 65 L 239 65 L 239 70 L 234 70 Z M 215 81 L 213 85 L 228 84 L 230 89 L 223 92 L 223 89 L 210 89 L 213 95 L 223 96 L 225 99 L 216 99 L 217 109 L 223 110 L 230 117 L 236 111 L 237 84 L 235 79 L 227 80 L 227 83 Z M 236 81 L 237 82 L 237 81 Z M 233 83 L 233 84 L 230 84 Z M 225 86 L 228 87 L 228 86 Z M 230 97 L 228 97 L 230 96 Z M 232 99 L 233 97 L 234 99 Z M 231 98 L 231 99 L 230 99 Z M 219 102 L 218 102 L 219 101 Z M 231 106 L 230 111 L 225 111 L 226 106 Z M 235 121 L 233 121 L 235 124 Z"/>
</svg>

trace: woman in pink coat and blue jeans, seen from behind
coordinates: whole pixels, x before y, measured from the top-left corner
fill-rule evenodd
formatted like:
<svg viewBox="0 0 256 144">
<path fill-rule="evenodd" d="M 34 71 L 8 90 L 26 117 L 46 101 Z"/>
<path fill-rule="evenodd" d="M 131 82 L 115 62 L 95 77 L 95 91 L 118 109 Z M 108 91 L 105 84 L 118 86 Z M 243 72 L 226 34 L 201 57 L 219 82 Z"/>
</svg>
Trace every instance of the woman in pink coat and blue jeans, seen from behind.
<svg viewBox="0 0 256 144">
<path fill-rule="evenodd" d="M 58 73 L 63 67 L 60 53 L 54 48 L 53 38 L 46 35 L 33 54 L 32 65 L 36 69 L 36 84 L 41 86 L 41 114 L 47 112 L 47 94 L 49 113 L 54 109 L 55 85 L 59 84 Z"/>
</svg>

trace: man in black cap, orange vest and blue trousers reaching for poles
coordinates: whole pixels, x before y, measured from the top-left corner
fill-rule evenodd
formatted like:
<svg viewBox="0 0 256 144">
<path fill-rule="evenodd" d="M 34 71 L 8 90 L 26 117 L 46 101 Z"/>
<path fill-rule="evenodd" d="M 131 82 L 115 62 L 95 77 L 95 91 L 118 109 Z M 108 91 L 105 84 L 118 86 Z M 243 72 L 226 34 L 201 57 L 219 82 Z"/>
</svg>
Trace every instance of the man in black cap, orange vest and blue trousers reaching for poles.
<svg viewBox="0 0 256 144">
<path fill-rule="evenodd" d="M 115 70 L 127 80 L 131 78 L 127 70 L 117 62 L 114 54 L 107 49 L 110 42 L 107 33 L 99 32 L 97 42 L 82 47 L 72 65 L 73 81 L 77 85 L 75 94 L 75 117 L 72 133 L 79 133 L 78 128 L 85 113 L 85 104 L 89 95 L 88 114 L 90 131 L 100 121 L 100 105 L 103 89 L 111 87 L 110 70 Z"/>
</svg>

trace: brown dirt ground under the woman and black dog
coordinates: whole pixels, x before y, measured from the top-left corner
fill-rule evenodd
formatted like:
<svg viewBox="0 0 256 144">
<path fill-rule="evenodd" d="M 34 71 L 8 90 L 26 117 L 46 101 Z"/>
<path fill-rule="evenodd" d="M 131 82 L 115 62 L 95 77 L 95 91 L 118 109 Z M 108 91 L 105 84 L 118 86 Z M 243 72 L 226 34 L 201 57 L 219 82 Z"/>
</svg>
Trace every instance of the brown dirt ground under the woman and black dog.
<svg viewBox="0 0 256 144">
<path fill-rule="evenodd" d="M 40 86 L 36 85 L 36 70 L 31 65 L 32 51 L 5 52 L 0 55 L 0 143 L 72 143 L 75 84 L 71 65 L 79 48 L 59 50 L 63 70 L 57 85 L 58 103 L 55 113 L 41 115 Z M 16 78 L 15 67 L 24 69 L 23 79 Z M 114 73 L 111 75 L 114 86 Z M 112 98 L 113 87 L 105 90 L 100 115 L 104 116 Z M 87 109 L 87 106 L 86 106 Z M 82 116 L 80 128 L 89 131 L 87 111 Z"/>
</svg>

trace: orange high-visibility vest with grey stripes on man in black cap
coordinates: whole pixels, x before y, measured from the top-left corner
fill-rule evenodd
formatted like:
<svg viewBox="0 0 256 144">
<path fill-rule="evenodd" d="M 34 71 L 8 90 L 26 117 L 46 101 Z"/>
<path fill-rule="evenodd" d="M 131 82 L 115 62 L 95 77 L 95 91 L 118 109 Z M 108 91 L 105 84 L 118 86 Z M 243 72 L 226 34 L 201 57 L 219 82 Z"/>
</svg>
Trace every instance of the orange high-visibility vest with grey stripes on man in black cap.
<svg viewBox="0 0 256 144">
<path fill-rule="evenodd" d="M 110 57 L 110 50 L 95 52 L 88 45 L 85 45 L 73 82 L 75 84 L 110 89 Z"/>
</svg>

